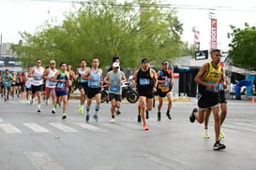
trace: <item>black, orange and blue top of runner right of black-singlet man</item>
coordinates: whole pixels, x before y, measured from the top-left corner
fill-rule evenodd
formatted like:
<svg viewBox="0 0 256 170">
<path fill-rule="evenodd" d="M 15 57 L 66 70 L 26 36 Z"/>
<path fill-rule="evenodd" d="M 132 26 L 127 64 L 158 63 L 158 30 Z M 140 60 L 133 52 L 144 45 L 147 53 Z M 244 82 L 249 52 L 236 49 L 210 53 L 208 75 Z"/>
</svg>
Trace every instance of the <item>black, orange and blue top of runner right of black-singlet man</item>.
<svg viewBox="0 0 256 170">
<path fill-rule="evenodd" d="M 159 83 L 158 89 L 161 90 L 161 92 L 168 92 L 172 90 L 171 87 L 171 80 L 172 80 L 173 71 L 171 69 L 168 69 L 168 71 L 165 71 L 163 69 L 160 70 L 160 75 L 158 80 L 166 80 L 164 84 Z"/>
</svg>

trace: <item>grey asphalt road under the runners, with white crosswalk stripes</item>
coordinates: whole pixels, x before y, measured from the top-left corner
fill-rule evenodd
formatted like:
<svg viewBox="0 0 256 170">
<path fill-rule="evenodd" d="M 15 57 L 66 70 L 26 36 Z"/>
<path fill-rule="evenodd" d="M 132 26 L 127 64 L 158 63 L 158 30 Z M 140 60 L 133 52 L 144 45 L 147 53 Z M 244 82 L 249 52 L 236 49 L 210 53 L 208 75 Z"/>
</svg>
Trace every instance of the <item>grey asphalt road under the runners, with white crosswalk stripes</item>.
<svg viewBox="0 0 256 170">
<path fill-rule="evenodd" d="M 215 151 L 213 117 L 210 139 L 203 139 L 203 124 L 188 121 L 195 98 L 173 103 L 173 120 L 164 115 L 166 103 L 161 121 L 154 107 L 149 131 L 137 122 L 138 104 L 123 102 L 114 124 L 110 104 L 102 104 L 98 122 L 87 124 L 78 100 L 69 101 L 68 119 L 61 120 L 61 110 L 53 115 L 44 103 L 38 113 L 20 98 L 0 98 L 0 170 L 255 170 L 256 104 L 228 102 L 227 149 Z"/>
</svg>

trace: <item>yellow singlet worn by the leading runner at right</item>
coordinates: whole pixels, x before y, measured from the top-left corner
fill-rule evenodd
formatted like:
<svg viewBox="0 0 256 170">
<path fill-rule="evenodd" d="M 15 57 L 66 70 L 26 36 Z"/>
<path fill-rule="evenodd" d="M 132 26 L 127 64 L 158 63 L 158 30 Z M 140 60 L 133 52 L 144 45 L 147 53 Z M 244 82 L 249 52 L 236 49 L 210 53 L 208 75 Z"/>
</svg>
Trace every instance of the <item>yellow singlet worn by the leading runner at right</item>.
<svg viewBox="0 0 256 170">
<path fill-rule="evenodd" d="M 207 92 L 219 92 L 223 90 L 223 86 L 221 83 L 218 83 L 220 78 L 221 78 L 221 72 L 222 72 L 222 67 L 220 64 L 218 64 L 218 67 L 215 68 L 212 64 L 212 62 L 208 63 L 208 73 L 207 75 L 203 78 L 204 82 L 207 83 L 215 83 L 217 85 L 215 90 L 211 90 L 208 87 L 199 85 L 199 92 L 202 92 L 203 90 L 206 90 Z"/>
</svg>

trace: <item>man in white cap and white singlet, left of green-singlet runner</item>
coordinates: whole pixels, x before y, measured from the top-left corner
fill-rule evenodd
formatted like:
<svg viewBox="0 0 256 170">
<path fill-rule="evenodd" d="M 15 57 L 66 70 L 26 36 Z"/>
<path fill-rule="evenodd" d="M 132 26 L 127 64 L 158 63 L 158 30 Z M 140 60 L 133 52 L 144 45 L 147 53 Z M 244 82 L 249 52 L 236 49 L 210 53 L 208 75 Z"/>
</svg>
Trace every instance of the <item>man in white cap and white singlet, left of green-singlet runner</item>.
<svg viewBox="0 0 256 170">
<path fill-rule="evenodd" d="M 57 73 L 57 69 L 55 68 L 56 63 L 54 60 L 50 61 L 50 67 L 45 69 L 43 72 L 43 76 L 42 78 L 45 79 L 45 93 L 46 93 L 46 98 L 45 98 L 45 104 L 49 105 L 49 98 L 50 95 L 52 96 L 53 99 L 53 110 L 52 113 L 55 113 L 55 108 L 54 108 L 54 104 L 55 104 L 55 100 L 56 100 L 56 95 L 55 95 L 55 86 L 56 86 L 56 82 L 53 82 L 53 77 L 54 75 Z"/>
</svg>

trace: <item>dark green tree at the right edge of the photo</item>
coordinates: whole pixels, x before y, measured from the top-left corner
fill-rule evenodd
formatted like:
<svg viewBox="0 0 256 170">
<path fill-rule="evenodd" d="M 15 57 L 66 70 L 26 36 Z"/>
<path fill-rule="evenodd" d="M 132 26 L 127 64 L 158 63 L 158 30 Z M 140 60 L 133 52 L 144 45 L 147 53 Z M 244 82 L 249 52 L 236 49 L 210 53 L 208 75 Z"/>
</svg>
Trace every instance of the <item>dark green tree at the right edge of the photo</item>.
<svg viewBox="0 0 256 170">
<path fill-rule="evenodd" d="M 233 38 L 229 44 L 233 64 L 239 67 L 256 71 L 256 28 L 245 23 L 245 28 L 240 29 L 231 25 L 233 33 L 228 37 Z"/>
</svg>

